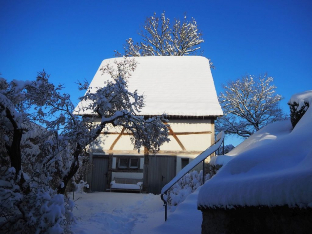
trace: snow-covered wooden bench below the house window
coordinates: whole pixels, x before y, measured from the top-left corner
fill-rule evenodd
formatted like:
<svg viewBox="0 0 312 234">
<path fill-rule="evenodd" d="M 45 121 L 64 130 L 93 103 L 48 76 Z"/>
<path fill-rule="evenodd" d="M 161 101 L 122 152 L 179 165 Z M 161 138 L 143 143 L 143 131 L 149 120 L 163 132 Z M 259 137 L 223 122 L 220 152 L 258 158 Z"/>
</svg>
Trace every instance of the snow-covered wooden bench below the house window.
<svg viewBox="0 0 312 234">
<path fill-rule="evenodd" d="M 142 179 L 131 178 L 117 178 L 111 182 L 112 191 L 137 191 L 142 193 L 143 181 Z"/>
</svg>

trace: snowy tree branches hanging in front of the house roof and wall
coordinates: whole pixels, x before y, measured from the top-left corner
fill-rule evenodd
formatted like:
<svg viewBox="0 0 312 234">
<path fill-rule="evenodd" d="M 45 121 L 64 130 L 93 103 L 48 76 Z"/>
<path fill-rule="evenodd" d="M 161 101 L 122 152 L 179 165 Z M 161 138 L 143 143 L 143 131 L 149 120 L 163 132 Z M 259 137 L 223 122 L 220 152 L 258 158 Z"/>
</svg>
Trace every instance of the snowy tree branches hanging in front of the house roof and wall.
<svg viewBox="0 0 312 234">
<path fill-rule="evenodd" d="M 139 95 L 137 90 L 134 92 L 128 90 L 128 79 L 131 78 L 131 72 L 136 66 L 135 59 L 124 58 L 115 61 L 114 64 L 106 64 L 100 69 L 111 76 L 110 80 L 105 81 L 104 87 L 80 84 L 81 89 L 87 90 L 80 100 L 88 103 L 81 110 L 95 111 L 93 116 L 84 118 L 86 122 L 92 122 L 97 117 L 101 119 L 97 126 L 90 129 L 92 140 L 98 137 L 107 124 L 122 126 L 133 134 L 132 142 L 135 149 L 145 147 L 155 154 L 160 145 L 168 141 L 167 125 L 163 124 L 165 119 L 162 116 L 148 119 L 139 116 L 144 106 L 144 96 Z"/>
</svg>

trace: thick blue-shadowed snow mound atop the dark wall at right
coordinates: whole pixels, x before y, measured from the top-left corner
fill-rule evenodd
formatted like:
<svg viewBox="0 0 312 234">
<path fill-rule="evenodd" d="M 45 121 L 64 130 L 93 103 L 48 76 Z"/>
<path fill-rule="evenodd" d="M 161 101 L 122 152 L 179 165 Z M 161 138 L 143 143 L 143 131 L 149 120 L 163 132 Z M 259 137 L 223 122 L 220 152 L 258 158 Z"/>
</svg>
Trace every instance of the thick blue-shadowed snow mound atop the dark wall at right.
<svg viewBox="0 0 312 234">
<path fill-rule="evenodd" d="M 312 92 L 291 100 L 311 101 Z M 202 186 L 197 205 L 312 207 L 311 139 L 311 106 L 293 130 L 289 119 L 265 126 L 227 154 L 233 159 Z"/>
</svg>

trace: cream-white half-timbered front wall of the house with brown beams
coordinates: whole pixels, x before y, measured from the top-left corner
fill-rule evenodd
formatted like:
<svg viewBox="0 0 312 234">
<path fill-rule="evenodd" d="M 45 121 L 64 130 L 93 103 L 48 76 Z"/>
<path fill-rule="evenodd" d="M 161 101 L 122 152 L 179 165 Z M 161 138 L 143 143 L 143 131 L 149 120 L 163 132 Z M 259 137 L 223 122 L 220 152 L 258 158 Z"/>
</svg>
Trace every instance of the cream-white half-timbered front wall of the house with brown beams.
<svg viewBox="0 0 312 234">
<path fill-rule="evenodd" d="M 171 133 L 169 136 L 170 142 L 160 147 L 159 155 L 176 156 L 176 173 L 182 169 L 182 158 L 189 158 L 189 162 L 191 162 L 211 145 L 211 136 L 214 135 L 214 125 L 211 124 L 211 121 L 213 120 L 175 119 L 169 121 L 172 130 L 169 131 Z M 105 129 L 105 133 L 100 134 L 98 137 L 98 143 L 91 146 L 93 154 L 110 158 L 111 166 L 109 170 L 111 176 L 109 181 L 115 177 L 143 179 L 144 149 L 140 149 L 140 153 L 134 150 L 129 134 L 124 131 L 124 135 L 120 136 L 121 131 L 121 128 L 112 126 Z M 133 171 L 129 168 L 118 168 L 118 157 L 120 156 L 139 156 L 139 168 Z M 206 161 L 209 161 L 209 159 Z M 198 165 L 194 170 L 199 171 L 201 169 L 202 164 Z M 90 181 L 90 177 L 88 181 Z"/>
</svg>

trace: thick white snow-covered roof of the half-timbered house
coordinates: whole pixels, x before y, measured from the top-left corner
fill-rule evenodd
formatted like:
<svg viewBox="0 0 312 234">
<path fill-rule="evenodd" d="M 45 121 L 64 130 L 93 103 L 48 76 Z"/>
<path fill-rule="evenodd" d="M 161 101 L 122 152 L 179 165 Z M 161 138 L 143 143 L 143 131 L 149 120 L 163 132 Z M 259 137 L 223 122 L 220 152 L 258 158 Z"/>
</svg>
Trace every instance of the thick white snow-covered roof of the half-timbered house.
<svg viewBox="0 0 312 234">
<path fill-rule="evenodd" d="M 99 68 L 114 59 L 105 59 Z M 136 70 L 129 78 L 129 90 L 144 94 L 145 104 L 140 115 L 153 116 L 222 116 L 209 60 L 199 56 L 137 57 Z M 90 86 L 103 87 L 108 74 L 97 71 Z M 78 103 L 84 105 L 83 102 Z M 76 114 L 92 114 L 92 110 Z"/>
</svg>

